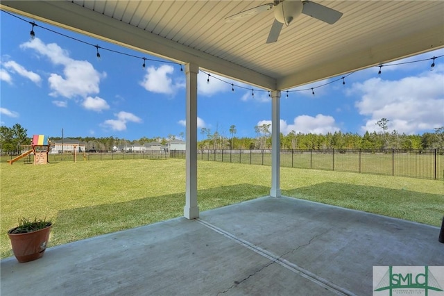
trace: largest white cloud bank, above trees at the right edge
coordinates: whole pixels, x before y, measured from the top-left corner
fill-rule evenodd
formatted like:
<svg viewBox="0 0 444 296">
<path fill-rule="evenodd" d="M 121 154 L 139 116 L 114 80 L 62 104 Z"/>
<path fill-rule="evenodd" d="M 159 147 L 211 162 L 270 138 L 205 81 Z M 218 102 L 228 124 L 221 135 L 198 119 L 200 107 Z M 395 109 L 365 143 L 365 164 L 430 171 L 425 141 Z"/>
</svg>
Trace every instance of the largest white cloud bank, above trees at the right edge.
<svg viewBox="0 0 444 296">
<path fill-rule="evenodd" d="M 367 117 L 361 132 L 380 131 L 375 123 L 381 118 L 389 120 L 390 131 L 399 133 L 420 133 L 443 126 L 443 81 L 443 69 L 437 69 L 398 81 L 373 78 L 354 83 L 350 93 L 361 95 L 355 106 Z"/>
</svg>

